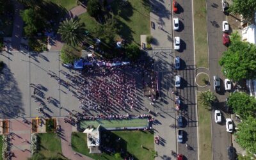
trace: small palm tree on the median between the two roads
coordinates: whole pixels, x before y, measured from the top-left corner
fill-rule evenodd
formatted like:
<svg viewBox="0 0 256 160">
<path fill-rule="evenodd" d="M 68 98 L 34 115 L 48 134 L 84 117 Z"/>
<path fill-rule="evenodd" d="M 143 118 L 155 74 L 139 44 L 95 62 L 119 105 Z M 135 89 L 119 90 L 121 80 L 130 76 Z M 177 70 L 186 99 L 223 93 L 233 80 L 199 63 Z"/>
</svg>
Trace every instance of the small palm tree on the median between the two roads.
<svg viewBox="0 0 256 160">
<path fill-rule="evenodd" d="M 207 92 L 201 92 L 198 96 L 199 102 L 201 102 L 204 106 L 211 107 L 212 103 L 215 102 L 216 96 L 210 90 Z"/>
</svg>

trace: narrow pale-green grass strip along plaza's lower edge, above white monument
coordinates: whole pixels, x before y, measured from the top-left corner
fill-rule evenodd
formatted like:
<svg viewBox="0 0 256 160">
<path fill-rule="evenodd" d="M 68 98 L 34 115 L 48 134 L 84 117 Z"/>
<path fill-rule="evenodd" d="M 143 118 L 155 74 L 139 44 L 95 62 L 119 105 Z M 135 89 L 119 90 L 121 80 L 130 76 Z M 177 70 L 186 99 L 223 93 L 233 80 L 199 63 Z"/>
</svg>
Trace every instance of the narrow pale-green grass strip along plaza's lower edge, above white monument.
<svg viewBox="0 0 256 160">
<path fill-rule="evenodd" d="M 95 128 L 100 124 L 102 127 L 146 127 L 148 119 L 131 119 L 131 120 L 84 120 L 80 122 L 80 127 L 86 129 L 88 125 L 93 125 Z"/>
</svg>

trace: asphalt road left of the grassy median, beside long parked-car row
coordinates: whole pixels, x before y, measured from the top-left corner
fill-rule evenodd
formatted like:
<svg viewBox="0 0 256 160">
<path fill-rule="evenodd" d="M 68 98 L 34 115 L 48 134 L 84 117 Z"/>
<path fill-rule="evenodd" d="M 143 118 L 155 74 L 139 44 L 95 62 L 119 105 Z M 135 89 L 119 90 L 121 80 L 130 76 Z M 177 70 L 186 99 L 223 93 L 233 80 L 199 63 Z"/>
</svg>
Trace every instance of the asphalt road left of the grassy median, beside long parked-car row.
<svg viewBox="0 0 256 160">
<path fill-rule="evenodd" d="M 195 105 L 195 58 L 193 45 L 193 14 L 191 1 L 177 1 L 179 3 L 178 12 L 173 13 L 173 17 L 179 18 L 180 29 L 173 31 L 174 36 L 180 37 L 180 50 L 175 51 L 175 56 L 180 56 L 181 65 L 177 74 L 182 77 L 181 87 L 177 89 L 178 95 L 181 98 L 182 105 L 179 115 L 183 116 L 184 120 L 184 142 L 179 143 L 178 152 L 183 154 L 186 159 L 198 159 L 198 138 L 197 138 L 197 116 Z M 188 143 L 193 150 L 186 148 Z"/>
</svg>

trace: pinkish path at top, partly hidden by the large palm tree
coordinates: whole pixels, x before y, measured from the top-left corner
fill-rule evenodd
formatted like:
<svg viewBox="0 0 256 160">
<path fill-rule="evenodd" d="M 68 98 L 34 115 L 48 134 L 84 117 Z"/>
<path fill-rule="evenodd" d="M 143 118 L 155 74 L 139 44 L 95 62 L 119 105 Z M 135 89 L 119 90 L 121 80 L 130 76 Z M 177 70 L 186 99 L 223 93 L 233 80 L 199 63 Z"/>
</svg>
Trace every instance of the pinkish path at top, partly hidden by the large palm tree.
<svg viewBox="0 0 256 160">
<path fill-rule="evenodd" d="M 72 8 L 69 12 L 68 15 L 66 16 L 66 18 L 74 18 L 77 17 L 81 14 L 83 14 L 84 12 L 87 12 L 86 8 L 84 8 L 83 6 L 76 6 L 74 8 Z M 54 42 L 54 45 L 52 45 L 50 51 L 60 51 L 61 47 L 64 45 L 63 42 L 61 42 L 61 37 L 60 35 L 57 36 L 56 41 Z"/>
</svg>

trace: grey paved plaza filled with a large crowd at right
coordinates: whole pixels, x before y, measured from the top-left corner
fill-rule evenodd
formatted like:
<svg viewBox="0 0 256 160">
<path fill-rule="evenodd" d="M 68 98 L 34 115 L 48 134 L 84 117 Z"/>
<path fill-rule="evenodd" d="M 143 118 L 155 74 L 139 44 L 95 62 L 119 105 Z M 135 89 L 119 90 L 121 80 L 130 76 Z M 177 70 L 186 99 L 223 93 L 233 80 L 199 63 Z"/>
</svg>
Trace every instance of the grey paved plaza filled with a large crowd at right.
<svg viewBox="0 0 256 160">
<path fill-rule="evenodd" d="M 38 112 L 39 108 L 44 108 L 45 115 L 49 117 L 66 116 L 68 113 L 72 112 L 72 110 L 80 113 L 87 111 L 88 114 L 92 116 L 97 114 L 126 115 L 127 113 L 138 115 L 141 113 L 148 113 L 149 110 L 153 112 L 156 111 L 156 104 L 152 105 L 151 97 L 144 95 L 147 95 L 147 93 L 145 93 L 146 91 L 144 90 L 143 81 L 144 83 L 147 83 L 147 78 L 150 76 L 144 73 L 145 70 L 142 66 L 140 68 L 140 65 L 135 65 L 135 68 L 128 67 L 124 70 L 113 68 L 108 72 L 106 71 L 106 74 L 110 74 L 110 76 L 107 75 L 102 77 L 90 75 L 87 70 L 84 71 L 87 73 L 85 73 L 86 75 L 84 78 L 88 81 L 86 94 L 90 94 L 90 92 L 93 93 L 92 98 L 90 99 L 92 104 L 102 105 L 99 108 L 103 108 L 105 105 L 111 109 L 111 112 L 104 113 L 102 112 L 102 109 L 95 109 L 93 106 L 91 106 L 91 109 L 90 107 L 88 108 L 88 106 L 91 105 L 87 103 L 88 100 L 79 99 L 79 96 L 81 97 L 81 95 L 83 95 L 82 93 L 80 95 L 75 95 L 77 91 L 80 92 L 82 90 L 83 92 L 83 89 L 79 90 L 79 88 L 82 87 L 82 84 L 73 84 L 72 81 L 68 79 L 67 73 L 69 76 L 73 77 L 77 77 L 79 73 L 75 70 L 68 70 L 61 65 L 59 52 L 43 52 L 40 54 L 3 52 L 3 54 L 1 54 L 1 59 L 6 64 L 6 67 L 4 67 L 3 70 L 4 74 L 1 74 L 1 110 L 3 111 L 1 113 L 1 118 L 42 116 L 42 113 Z M 89 69 L 90 68 L 88 68 L 88 70 Z M 122 82 L 120 82 L 120 84 L 126 85 L 125 87 L 127 87 L 127 89 L 125 88 L 125 90 L 127 90 L 127 93 L 124 88 L 121 88 L 124 86 L 120 86 L 118 89 L 118 85 L 115 84 L 118 83 L 118 80 L 115 79 L 115 74 L 118 74 L 119 72 L 122 72 Z M 111 76 L 113 73 L 114 76 Z M 102 83 L 103 80 L 101 81 L 100 79 L 104 79 L 107 83 L 111 83 L 111 87 L 115 90 L 112 90 L 112 88 L 107 88 L 107 90 L 100 88 L 106 85 L 105 83 Z M 141 81 L 141 79 L 144 80 Z M 63 83 L 60 83 L 60 81 L 65 81 L 65 83 L 70 83 L 70 85 L 67 87 Z M 127 81 L 134 81 L 135 89 L 132 89 L 131 84 L 127 83 Z M 101 86 L 97 86 L 97 83 L 100 83 Z M 92 86 L 95 86 L 95 88 Z M 92 90 L 97 91 L 93 92 Z M 102 91 L 99 92 L 100 90 Z M 108 90 L 110 90 L 111 93 L 108 93 Z M 118 90 L 120 90 L 120 92 Z M 98 97 L 97 100 L 97 96 L 102 96 L 101 99 L 104 99 L 104 97 L 108 95 L 111 97 L 112 101 L 106 99 L 107 101 L 101 102 L 100 97 Z M 120 95 L 121 97 L 118 97 Z M 126 95 L 127 97 L 125 97 Z M 47 102 L 49 97 L 51 97 L 52 101 L 50 103 Z M 122 102 L 119 102 L 116 97 L 124 99 L 120 100 Z M 122 106 L 124 106 L 124 108 L 122 108 Z M 107 110 L 108 109 L 105 109 L 105 111 Z"/>
</svg>

